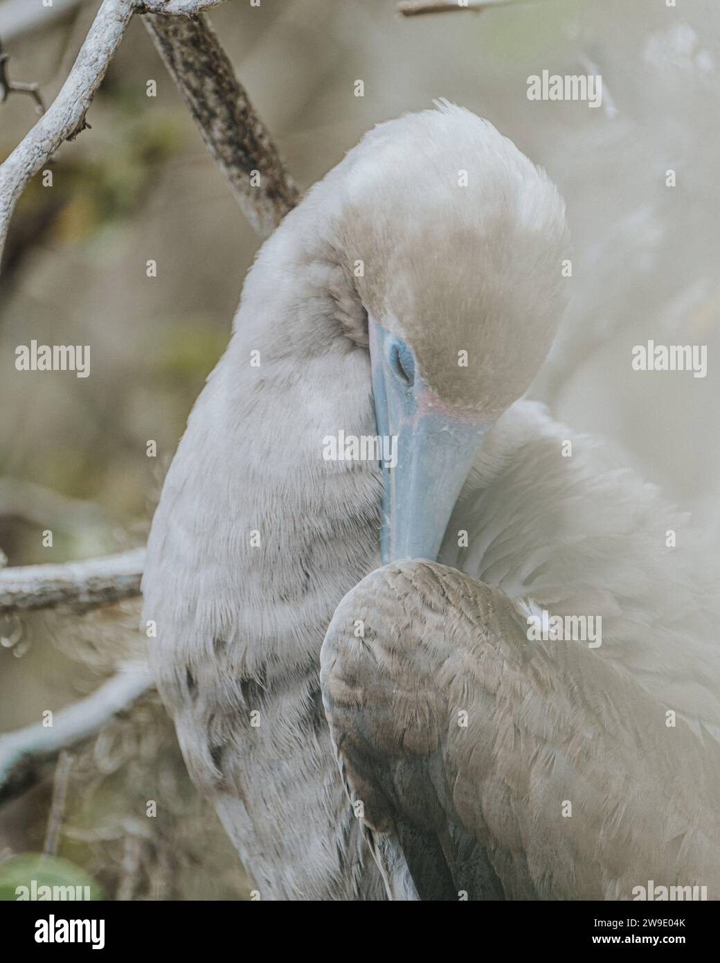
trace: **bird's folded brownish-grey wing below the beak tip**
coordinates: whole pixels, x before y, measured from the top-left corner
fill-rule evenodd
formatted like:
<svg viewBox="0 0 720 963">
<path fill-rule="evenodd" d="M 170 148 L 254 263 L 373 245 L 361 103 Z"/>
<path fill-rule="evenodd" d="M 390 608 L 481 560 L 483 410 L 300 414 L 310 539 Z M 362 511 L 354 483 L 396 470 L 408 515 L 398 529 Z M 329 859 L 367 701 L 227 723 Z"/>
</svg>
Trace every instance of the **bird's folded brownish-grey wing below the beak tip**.
<svg viewBox="0 0 720 963">
<path fill-rule="evenodd" d="M 411 561 L 333 617 L 325 713 L 391 895 L 401 855 L 422 899 L 720 898 L 718 742 L 602 646 L 529 641 L 527 614 Z"/>
</svg>

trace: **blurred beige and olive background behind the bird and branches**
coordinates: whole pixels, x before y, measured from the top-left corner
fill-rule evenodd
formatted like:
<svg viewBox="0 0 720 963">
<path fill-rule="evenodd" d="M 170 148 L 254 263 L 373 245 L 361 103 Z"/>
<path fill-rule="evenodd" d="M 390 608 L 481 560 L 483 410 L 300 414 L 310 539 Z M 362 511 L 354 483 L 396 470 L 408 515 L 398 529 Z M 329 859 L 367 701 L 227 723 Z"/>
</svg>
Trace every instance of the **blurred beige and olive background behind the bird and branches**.
<svg viewBox="0 0 720 963">
<path fill-rule="evenodd" d="M 0 0 L 13 80 L 37 81 L 49 104 L 98 6 L 57 0 L 30 15 L 29 2 Z M 235 0 L 211 19 L 303 189 L 374 123 L 440 96 L 492 120 L 549 170 L 573 231 L 572 299 L 530 395 L 604 437 L 717 538 L 715 0 L 538 0 L 412 18 L 392 0 Z M 602 107 L 529 101 L 527 78 L 543 69 L 597 71 Z M 36 119 L 28 96 L 0 105 L 0 157 Z M 139 17 L 88 119 L 91 129 L 48 166 L 52 188 L 38 175 L 18 203 L 0 280 L 0 548 L 11 565 L 142 544 L 259 245 Z M 148 259 L 157 277 L 146 276 Z M 14 350 L 31 339 L 89 344 L 90 377 L 16 372 Z M 649 339 L 707 345 L 707 377 L 633 372 L 632 347 Z M 145 455 L 148 439 L 157 458 Z M 42 547 L 44 529 L 52 548 Z M 139 611 L 124 603 L 0 625 L 0 731 L 62 709 L 140 652 Z M 116 899 L 247 898 L 153 694 L 63 767 L 62 820 L 48 848 L 68 861 L 57 864 L 61 875 L 90 878 Z M 52 799 L 48 766 L 0 808 L 0 891 L 20 872 L 17 854 L 47 847 Z"/>
</svg>

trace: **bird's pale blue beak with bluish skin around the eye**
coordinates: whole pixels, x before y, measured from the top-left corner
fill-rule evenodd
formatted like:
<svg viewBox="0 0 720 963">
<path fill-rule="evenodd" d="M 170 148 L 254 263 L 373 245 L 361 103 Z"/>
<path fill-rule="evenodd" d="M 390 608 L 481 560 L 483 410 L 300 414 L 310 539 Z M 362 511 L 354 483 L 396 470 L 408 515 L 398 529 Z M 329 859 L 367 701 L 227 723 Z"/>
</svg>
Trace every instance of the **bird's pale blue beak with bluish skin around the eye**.
<svg viewBox="0 0 720 963">
<path fill-rule="evenodd" d="M 389 438 L 382 462 L 383 564 L 436 560 L 450 512 L 493 421 L 443 403 L 425 384 L 412 350 L 370 320 L 375 423 Z"/>
</svg>

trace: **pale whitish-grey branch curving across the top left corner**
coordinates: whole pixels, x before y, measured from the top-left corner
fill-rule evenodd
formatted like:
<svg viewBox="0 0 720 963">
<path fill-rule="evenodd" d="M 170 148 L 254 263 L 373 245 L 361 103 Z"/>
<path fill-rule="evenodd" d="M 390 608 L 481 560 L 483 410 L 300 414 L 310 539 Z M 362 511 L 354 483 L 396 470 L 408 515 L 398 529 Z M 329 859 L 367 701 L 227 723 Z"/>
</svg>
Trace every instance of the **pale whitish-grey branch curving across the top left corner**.
<svg viewBox="0 0 720 963">
<path fill-rule="evenodd" d="M 61 91 L 0 165 L 0 254 L 17 198 L 64 141 L 87 126 L 85 115 L 134 11 L 134 0 L 103 0 Z"/>
</svg>

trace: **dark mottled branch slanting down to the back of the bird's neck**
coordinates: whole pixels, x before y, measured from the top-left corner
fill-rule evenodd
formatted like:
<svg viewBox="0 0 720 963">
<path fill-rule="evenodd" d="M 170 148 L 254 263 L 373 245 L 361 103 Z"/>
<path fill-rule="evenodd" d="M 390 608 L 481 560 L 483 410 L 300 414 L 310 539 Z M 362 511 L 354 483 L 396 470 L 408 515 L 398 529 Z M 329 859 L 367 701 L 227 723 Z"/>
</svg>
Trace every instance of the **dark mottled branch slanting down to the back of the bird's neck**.
<svg viewBox="0 0 720 963">
<path fill-rule="evenodd" d="M 268 237 L 299 192 L 215 31 L 202 16 L 146 16 L 144 23 L 245 217 Z"/>
</svg>

